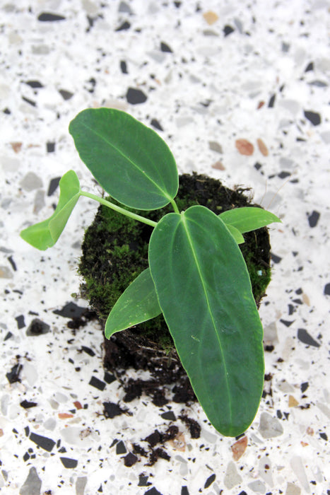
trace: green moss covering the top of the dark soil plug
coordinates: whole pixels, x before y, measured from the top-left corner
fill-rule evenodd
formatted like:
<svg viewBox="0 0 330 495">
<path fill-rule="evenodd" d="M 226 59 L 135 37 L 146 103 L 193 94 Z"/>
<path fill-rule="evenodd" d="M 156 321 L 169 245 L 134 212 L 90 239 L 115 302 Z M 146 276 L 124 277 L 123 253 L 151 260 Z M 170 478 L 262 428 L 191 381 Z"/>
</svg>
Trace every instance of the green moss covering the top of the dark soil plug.
<svg viewBox="0 0 330 495">
<path fill-rule="evenodd" d="M 241 190 L 228 190 L 220 182 L 202 175 L 180 177 L 176 202 L 179 211 L 193 204 L 203 204 L 217 214 L 233 206 L 249 204 Z M 172 211 L 172 207 L 166 206 L 156 211 L 132 211 L 158 221 Z M 102 205 L 92 225 L 86 230 L 83 255 L 78 267 L 78 272 L 84 279 L 81 295 L 88 298 L 91 307 L 103 322 L 126 287 L 148 267 L 148 241 L 151 232 L 150 226 Z M 244 234 L 244 240 L 245 243 L 241 245 L 242 255 L 247 262 L 254 298 L 259 303 L 271 274 L 269 235 L 266 228 L 262 228 Z M 170 352 L 173 347 L 163 315 L 138 325 L 134 328 L 134 333 L 143 334 L 151 342 L 158 342 L 166 352 Z"/>
</svg>

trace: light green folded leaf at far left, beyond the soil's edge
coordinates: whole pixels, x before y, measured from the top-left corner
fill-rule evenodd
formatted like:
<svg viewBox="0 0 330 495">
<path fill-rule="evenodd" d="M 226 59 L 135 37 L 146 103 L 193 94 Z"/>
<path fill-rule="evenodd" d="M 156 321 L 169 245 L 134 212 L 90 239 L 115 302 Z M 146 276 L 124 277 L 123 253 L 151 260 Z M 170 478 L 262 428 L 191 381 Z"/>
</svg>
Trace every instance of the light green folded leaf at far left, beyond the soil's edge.
<svg viewBox="0 0 330 495">
<path fill-rule="evenodd" d="M 69 170 L 59 181 L 59 203 L 57 208 L 49 217 L 40 223 L 35 223 L 20 232 L 20 237 L 34 248 L 45 251 L 51 248 L 61 235 L 66 222 L 69 220 L 79 196 L 81 188 L 76 172 Z"/>
</svg>

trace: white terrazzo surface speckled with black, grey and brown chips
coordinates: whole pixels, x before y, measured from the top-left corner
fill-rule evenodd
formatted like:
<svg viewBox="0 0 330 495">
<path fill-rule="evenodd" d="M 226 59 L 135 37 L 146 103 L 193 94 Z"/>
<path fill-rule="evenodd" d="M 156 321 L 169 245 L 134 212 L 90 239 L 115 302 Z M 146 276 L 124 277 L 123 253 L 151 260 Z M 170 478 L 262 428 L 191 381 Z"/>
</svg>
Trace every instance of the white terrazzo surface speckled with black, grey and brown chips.
<svg viewBox="0 0 330 495">
<path fill-rule="evenodd" d="M 329 0 L 1 2 L 1 493 L 329 494 L 329 21 Z M 264 397 L 240 438 L 199 404 L 183 411 L 199 438 L 182 404 L 124 404 L 97 323 L 67 326 L 87 305 L 71 293 L 97 204 L 79 199 L 52 250 L 19 238 L 69 168 L 100 192 L 68 132 L 99 106 L 157 130 L 180 173 L 252 187 L 283 220 L 260 309 Z"/>
</svg>

